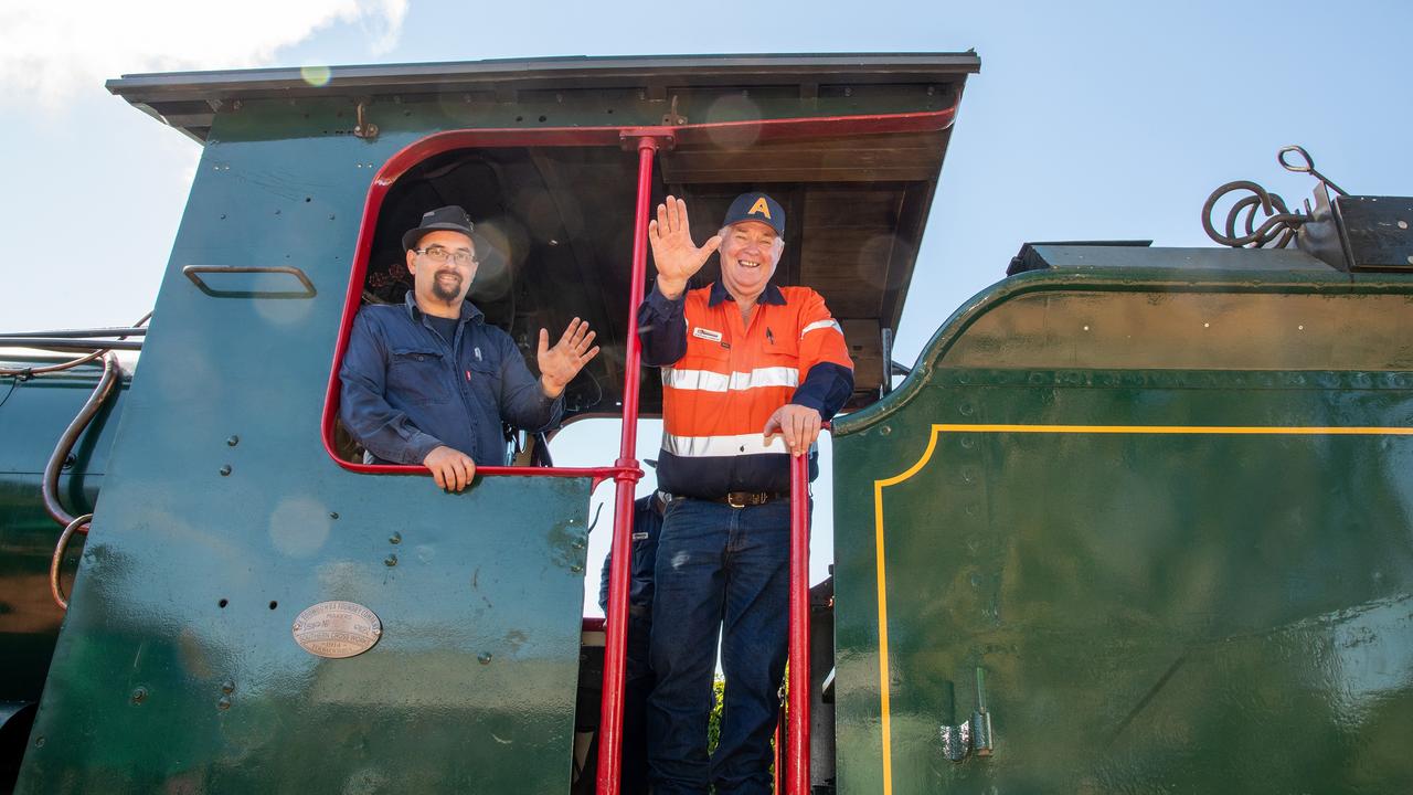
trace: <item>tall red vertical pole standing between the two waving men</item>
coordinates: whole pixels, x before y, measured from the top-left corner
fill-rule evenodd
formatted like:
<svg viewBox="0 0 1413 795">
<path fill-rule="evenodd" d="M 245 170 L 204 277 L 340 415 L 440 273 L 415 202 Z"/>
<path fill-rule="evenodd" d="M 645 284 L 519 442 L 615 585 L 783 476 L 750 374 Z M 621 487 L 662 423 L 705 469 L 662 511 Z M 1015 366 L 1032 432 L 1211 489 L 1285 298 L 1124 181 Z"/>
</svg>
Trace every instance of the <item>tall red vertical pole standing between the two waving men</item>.
<svg viewBox="0 0 1413 795">
<path fill-rule="evenodd" d="M 637 468 L 637 388 L 642 344 L 637 338 L 637 306 L 647 283 L 647 212 L 653 197 L 653 156 L 657 141 L 637 140 L 637 208 L 633 212 L 633 282 L 627 311 L 627 359 L 623 362 L 623 437 L 615 465 Z M 609 569 L 608 637 L 603 645 L 603 702 L 599 707 L 598 795 L 617 795 L 623 758 L 623 652 L 627 641 L 627 569 L 633 557 L 629 535 L 633 529 L 633 489 L 637 477 L 613 477 L 613 564 Z"/>
</svg>

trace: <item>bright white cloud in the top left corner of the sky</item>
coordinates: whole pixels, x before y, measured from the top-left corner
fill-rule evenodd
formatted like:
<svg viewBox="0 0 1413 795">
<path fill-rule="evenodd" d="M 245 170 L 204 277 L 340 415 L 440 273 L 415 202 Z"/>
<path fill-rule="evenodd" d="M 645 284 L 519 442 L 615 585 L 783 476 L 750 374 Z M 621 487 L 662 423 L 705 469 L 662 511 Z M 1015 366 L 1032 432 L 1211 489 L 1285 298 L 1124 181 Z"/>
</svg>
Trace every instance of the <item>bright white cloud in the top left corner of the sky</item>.
<svg viewBox="0 0 1413 795">
<path fill-rule="evenodd" d="M 281 47 L 356 24 L 374 52 L 401 33 L 408 0 L 106 0 L 0 6 L 0 102 L 58 108 L 136 72 L 270 65 Z"/>
</svg>

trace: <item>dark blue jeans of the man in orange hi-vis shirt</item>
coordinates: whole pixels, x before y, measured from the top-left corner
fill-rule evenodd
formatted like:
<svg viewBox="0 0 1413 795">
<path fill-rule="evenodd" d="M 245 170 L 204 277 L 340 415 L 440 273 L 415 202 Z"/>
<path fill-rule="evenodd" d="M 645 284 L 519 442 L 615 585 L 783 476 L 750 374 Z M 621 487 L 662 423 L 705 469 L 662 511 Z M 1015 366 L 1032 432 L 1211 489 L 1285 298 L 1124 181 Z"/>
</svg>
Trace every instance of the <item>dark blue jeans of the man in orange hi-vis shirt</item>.
<svg viewBox="0 0 1413 795">
<path fill-rule="evenodd" d="M 790 502 L 667 506 L 657 546 L 647 757 L 654 795 L 770 792 L 790 622 Z M 721 741 L 706 757 L 716 641 L 726 675 Z"/>
</svg>

